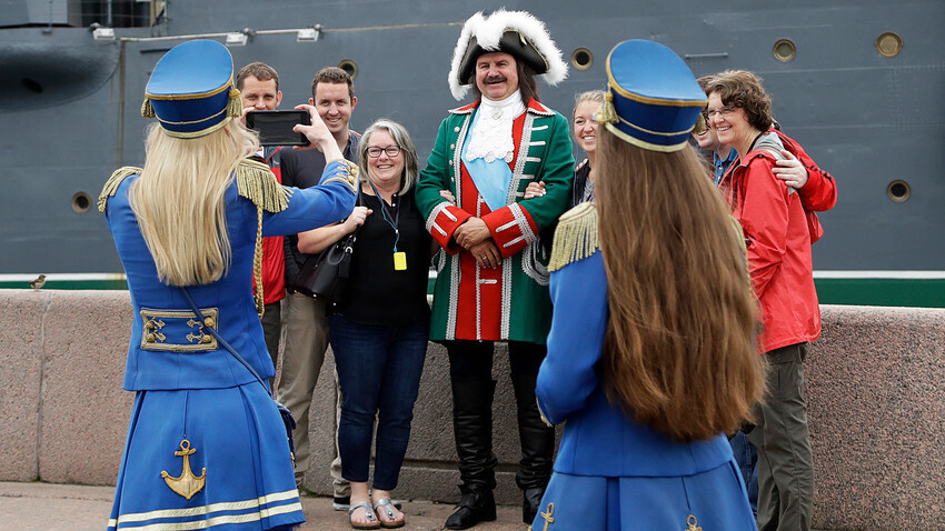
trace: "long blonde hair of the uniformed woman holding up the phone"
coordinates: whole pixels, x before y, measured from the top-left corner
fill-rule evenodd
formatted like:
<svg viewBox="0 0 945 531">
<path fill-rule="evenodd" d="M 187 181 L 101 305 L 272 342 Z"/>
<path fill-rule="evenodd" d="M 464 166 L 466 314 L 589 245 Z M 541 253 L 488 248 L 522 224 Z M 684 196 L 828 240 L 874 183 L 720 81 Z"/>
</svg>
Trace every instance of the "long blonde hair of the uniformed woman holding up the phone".
<svg viewBox="0 0 945 531">
<path fill-rule="evenodd" d="M 162 282 L 206 284 L 227 271 L 223 198 L 240 160 L 257 149 L 257 138 L 237 120 L 193 139 L 150 127 L 145 168 L 129 197 Z"/>
</svg>

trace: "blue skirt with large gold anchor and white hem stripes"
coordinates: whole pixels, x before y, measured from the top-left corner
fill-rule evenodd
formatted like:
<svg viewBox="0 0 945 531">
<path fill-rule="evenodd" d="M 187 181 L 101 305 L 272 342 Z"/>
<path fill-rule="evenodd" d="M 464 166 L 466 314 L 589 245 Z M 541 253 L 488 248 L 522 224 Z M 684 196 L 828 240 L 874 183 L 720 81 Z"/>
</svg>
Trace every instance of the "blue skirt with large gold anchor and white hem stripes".
<svg viewBox="0 0 945 531">
<path fill-rule="evenodd" d="M 262 385 L 138 392 L 109 531 L 304 521 L 286 428 Z"/>
</svg>

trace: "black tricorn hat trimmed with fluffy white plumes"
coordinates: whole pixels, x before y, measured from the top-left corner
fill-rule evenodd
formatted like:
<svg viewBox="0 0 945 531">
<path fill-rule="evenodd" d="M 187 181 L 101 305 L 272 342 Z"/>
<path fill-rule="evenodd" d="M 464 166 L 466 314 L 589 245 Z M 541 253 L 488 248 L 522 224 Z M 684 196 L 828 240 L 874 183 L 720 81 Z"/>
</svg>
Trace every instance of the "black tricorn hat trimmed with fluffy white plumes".
<svg viewBox="0 0 945 531">
<path fill-rule="evenodd" d="M 488 16 L 480 11 L 469 17 L 456 41 L 449 68 L 449 91 L 454 98 L 461 100 L 469 91 L 479 56 L 495 51 L 525 62 L 548 84 L 558 84 L 568 77 L 561 50 L 544 22 L 525 11 L 500 9 Z"/>
</svg>

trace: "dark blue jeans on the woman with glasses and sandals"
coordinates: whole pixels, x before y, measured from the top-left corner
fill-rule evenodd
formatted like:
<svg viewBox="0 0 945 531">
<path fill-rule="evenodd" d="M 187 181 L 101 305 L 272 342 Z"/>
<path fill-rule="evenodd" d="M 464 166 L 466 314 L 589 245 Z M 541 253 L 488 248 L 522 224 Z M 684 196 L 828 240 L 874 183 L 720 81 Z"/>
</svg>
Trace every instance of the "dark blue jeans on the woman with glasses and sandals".
<svg viewBox="0 0 945 531">
<path fill-rule="evenodd" d="M 410 441 L 429 325 L 360 324 L 335 314 L 329 327 L 341 385 L 341 475 L 348 481 L 368 481 L 377 418 L 374 488 L 394 490 Z"/>
</svg>

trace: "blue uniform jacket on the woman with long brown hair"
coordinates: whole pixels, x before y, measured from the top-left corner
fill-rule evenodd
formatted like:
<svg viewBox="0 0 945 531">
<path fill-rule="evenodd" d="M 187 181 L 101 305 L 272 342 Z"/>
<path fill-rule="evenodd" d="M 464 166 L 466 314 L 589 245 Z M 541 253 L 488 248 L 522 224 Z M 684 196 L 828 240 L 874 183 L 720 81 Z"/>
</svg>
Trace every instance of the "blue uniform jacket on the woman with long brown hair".
<svg viewBox="0 0 945 531">
<path fill-rule="evenodd" d="M 634 422 L 608 402 L 598 375 L 608 319 L 607 278 L 599 250 L 551 272 L 550 291 L 555 312 L 535 394 L 551 423 L 567 421 L 556 472 L 688 475 L 732 459 L 722 434 L 708 441 L 677 443 Z"/>
</svg>

